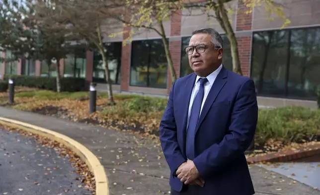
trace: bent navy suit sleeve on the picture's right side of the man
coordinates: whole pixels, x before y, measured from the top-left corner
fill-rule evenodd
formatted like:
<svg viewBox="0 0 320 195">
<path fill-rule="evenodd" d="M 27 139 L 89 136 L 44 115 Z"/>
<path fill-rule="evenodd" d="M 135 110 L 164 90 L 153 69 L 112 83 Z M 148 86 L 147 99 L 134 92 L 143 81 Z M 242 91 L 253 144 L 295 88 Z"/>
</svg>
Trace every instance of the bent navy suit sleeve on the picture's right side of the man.
<svg viewBox="0 0 320 195">
<path fill-rule="evenodd" d="M 231 115 L 229 134 L 194 159 L 199 174 L 206 178 L 224 164 L 239 157 L 249 147 L 255 133 L 258 105 L 254 83 L 246 80 L 240 87 Z"/>
</svg>

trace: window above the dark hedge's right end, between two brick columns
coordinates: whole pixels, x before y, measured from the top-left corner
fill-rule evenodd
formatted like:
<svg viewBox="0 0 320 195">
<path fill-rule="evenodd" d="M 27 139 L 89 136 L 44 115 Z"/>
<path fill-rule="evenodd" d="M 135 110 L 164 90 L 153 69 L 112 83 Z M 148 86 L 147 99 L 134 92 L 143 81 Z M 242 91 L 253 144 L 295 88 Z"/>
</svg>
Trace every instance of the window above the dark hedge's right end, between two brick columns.
<svg viewBox="0 0 320 195">
<path fill-rule="evenodd" d="M 64 77 L 85 78 L 86 51 L 75 48 L 74 52 L 67 55 L 64 67 Z"/>
</svg>

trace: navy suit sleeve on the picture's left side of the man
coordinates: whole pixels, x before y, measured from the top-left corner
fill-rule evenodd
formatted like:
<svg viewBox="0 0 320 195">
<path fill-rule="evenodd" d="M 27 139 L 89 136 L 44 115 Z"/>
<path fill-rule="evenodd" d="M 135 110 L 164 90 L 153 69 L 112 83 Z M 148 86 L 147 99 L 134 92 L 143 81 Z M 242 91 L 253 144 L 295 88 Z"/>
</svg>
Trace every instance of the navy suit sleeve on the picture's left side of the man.
<svg viewBox="0 0 320 195">
<path fill-rule="evenodd" d="M 187 159 L 181 154 L 177 141 L 177 128 L 173 113 L 173 93 L 175 81 L 172 84 L 166 109 L 160 121 L 160 142 L 164 157 L 172 174 Z"/>
</svg>

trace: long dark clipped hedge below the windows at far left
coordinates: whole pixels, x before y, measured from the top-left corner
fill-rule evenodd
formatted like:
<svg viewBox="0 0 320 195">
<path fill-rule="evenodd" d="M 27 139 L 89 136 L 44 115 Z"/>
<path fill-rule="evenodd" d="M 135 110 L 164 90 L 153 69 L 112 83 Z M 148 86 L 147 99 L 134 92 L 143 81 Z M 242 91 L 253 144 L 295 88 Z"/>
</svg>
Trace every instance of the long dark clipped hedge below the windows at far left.
<svg viewBox="0 0 320 195">
<path fill-rule="evenodd" d="M 8 83 L 8 79 L 14 81 L 15 86 L 24 86 L 30 88 L 38 88 L 44 90 L 57 91 L 57 83 L 55 77 L 37 77 L 25 75 L 5 75 L 3 82 Z M 61 92 L 79 92 L 85 90 L 84 78 L 66 77 L 61 78 Z"/>
</svg>

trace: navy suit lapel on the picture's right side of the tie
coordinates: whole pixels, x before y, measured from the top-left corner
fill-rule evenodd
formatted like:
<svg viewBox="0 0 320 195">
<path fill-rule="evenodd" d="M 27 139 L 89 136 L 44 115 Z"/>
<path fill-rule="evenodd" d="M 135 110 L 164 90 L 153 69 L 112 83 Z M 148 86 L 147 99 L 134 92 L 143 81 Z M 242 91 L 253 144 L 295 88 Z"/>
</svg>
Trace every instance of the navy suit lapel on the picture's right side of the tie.
<svg viewBox="0 0 320 195">
<path fill-rule="evenodd" d="M 225 86 L 226 82 L 227 82 L 227 76 L 228 76 L 228 72 L 226 70 L 225 67 L 222 67 L 220 73 L 218 74 L 215 82 L 213 83 L 210 92 L 208 94 L 208 97 L 206 98 L 206 101 L 203 105 L 200 117 L 199 117 L 199 121 L 197 124 L 197 128 L 196 128 L 196 132 L 199 129 L 199 126 L 201 125 L 203 119 L 205 118 L 205 116 L 207 115 L 208 111 L 210 110 L 210 107 L 212 105 L 212 103 L 216 100 L 218 94 L 220 93 L 221 89 Z"/>
</svg>

